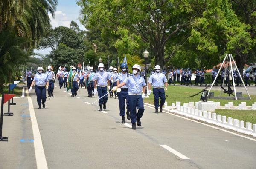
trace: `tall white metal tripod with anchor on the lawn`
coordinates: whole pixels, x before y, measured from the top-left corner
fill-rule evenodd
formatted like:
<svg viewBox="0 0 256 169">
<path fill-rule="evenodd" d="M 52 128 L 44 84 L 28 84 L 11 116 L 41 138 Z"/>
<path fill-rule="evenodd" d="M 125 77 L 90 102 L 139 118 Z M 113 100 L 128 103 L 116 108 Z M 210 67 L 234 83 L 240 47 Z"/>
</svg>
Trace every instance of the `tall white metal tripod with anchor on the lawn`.
<svg viewBox="0 0 256 169">
<path fill-rule="evenodd" d="M 221 63 L 221 67 L 220 67 L 220 69 L 218 70 L 218 73 L 217 73 L 217 75 L 216 75 L 216 77 L 215 77 L 215 79 L 214 79 L 214 81 L 213 81 L 213 83 L 212 83 L 212 86 L 215 84 L 215 81 L 216 81 L 216 79 L 218 78 L 218 75 L 219 75 L 220 72 L 221 72 L 221 68 L 223 68 L 223 67 L 225 67 L 225 70 L 224 70 L 224 78 L 223 78 L 223 82 L 222 82 L 221 86 L 224 85 L 227 67 L 229 67 L 229 64 L 225 64 L 225 66 L 223 66 L 223 64 L 224 64 L 225 61 L 226 61 L 227 63 L 230 63 L 231 74 L 232 74 L 232 80 L 233 80 L 233 87 L 234 87 L 234 92 L 235 92 L 235 98 L 236 98 L 236 100 L 237 100 L 237 97 L 236 97 L 236 85 L 235 85 L 235 79 L 234 79 L 234 73 L 233 73 L 233 67 L 232 67 L 232 61 L 234 62 L 234 65 L 235 65 L 235 66 L 236 66 L 236 62 L 235 62 L 235 60 L 234 60 L 232 54 L 226 54 L 226 56 L 225 56 L 223 62 Z M 237 66 L 236 66 L 236 69 L 238 70 Z M 246 86 L 245 86 L 245 84 L 244 84 L 243 78 L 242 78 L 242 76 L 241 76 L 241 74 L 240 74 L 239 71 L 238 71 L 238 73 L 239 73 L 241 82 L 243 83 L 244 88 L 245 88 L 245 90 L 246 90 L 246 92 L 247 92 L 247 95 L 250 97 L 249 92 L 248 92 L 248 90 L 247 90 L 247 88 L 246 88 Z M 210 88 L 210 90 L 209 90 L 207 96 L 209 96 L 210 91 L 212 90 L 212 86 L 211 86 L 211 88 Z M 222 89 L 221 89 L 221 93 L 222 93 Z M 250 97 L 250 99 L 251 99 L 251 97 Z"/>
</svg>

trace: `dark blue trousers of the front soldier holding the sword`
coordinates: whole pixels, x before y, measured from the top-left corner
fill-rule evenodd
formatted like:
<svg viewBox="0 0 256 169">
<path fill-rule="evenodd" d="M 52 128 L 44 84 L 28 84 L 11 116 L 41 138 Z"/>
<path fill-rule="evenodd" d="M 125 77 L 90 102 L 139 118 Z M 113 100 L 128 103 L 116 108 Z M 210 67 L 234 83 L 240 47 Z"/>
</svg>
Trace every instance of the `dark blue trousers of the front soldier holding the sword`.
<svg viewBox="0 0 256 169">
<path fill-rule="evenodd" d="M 143 98 L 141 95 L 128 95 L 129 97 L 129 108 L 130 108 L 130 117 L 131 123 L 136 123 L 137 118 L 141 118 L 144 113 L 144 105 L 143 105 Z M 136 108 L 138 109 L 138 113 L 136 113 Z"/>
</svg>

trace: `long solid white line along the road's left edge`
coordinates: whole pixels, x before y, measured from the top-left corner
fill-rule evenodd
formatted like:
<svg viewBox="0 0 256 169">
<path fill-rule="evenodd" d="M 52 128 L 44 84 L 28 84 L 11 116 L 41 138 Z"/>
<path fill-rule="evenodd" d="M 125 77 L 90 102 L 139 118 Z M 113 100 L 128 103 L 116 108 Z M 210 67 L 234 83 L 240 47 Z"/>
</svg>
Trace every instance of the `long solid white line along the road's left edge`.
<svg viewBox="0 0 256 169">
<path fill-rule="evenodd" d="M 35 149 L 35 159 L 36 159 L 36 165 L 38 169 L 48 169 L 47 161 L 44 154 L 44 147 L 40 135 L 40 131 L 38 128 L 38 123 L 35 117 L 35 110 L 33 107 L 32 99 L 29 97 L 28 90 L 26 91 L 27 98 L 29 102 L 29 113 L 32 123 L 32 130 L 33 130 L 33 136 L 34 136 L 34 149 Z"/>
</svg>

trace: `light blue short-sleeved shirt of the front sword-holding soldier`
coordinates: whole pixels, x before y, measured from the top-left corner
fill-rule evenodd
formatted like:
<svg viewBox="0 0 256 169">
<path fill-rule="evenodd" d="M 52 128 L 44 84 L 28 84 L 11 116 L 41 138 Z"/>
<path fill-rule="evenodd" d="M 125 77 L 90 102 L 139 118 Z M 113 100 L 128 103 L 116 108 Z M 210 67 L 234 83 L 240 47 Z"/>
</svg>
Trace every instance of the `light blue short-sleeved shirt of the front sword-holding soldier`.
<svg viewBox="0 0 256 169">
<path fill-rule="evenodd" d="M 128 86 L 128 93 L 141 93 L 142 88 L 146 86 L 144 78 L 140 77 L 140 75 L 138 75 L 138 77 L 135 77 L 134 74 L 132 76 L 128 76 L 125 78 L 124 82 L 126 86 Z M 137 86 L 135 83 L 137 84 Z"/>
</svg>

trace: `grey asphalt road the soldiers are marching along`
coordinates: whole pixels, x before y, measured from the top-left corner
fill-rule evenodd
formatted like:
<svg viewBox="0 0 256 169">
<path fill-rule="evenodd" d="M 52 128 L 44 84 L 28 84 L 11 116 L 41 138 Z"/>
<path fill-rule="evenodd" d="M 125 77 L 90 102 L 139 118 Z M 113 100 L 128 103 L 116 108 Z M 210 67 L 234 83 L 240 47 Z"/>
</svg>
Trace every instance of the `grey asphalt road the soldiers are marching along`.
<svg viewBox="0 0 256 169">
<path fill-rule="evenodd" d="M 29 96 L 37 108 L 35 91 Z M 154 108 L 148 106 L 142 126 L 131 130 L 128 120 L 126 125 L 120 123 L 118 100 L 108 98 L 107 110 L 99 112 L 97 104 L 87 104 L 96 100 L 96 96 L 87 97 L 87 89 L 80 88 L 78 97 L 70 96 L 70 92 L 55 88 L 51 101 L 47 98 L 46 109 L 34 109 L 49 169 L 256 166 L 255 138 L 249 140 L 168 113 L 155 114 Z M 9 142 L 0 142 L 0 169 L 34 169 L 34 149 L 38 147 L 32 142 L 20 142 L 38 140 L 33 138 L 30 117 L 21 116 L 29 115 L 28 97 L 15 101 L 17 106 L 11 107 L 15 115 L 4 117 L 3 136 L 9 137 Z"/>
</svg>

